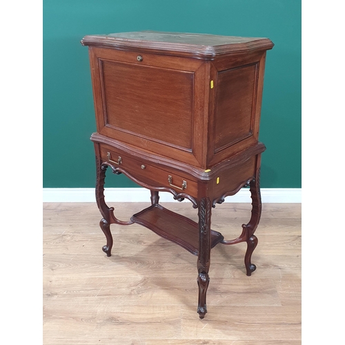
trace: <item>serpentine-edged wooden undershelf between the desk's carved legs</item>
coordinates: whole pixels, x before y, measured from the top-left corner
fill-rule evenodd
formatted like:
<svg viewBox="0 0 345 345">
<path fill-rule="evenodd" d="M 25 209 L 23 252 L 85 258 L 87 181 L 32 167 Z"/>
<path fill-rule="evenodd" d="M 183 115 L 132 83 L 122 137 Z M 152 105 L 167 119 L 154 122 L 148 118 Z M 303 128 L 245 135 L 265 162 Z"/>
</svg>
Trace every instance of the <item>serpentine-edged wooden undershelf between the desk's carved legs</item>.
<svg viewBox="0 0 345 345">
<path fill-rule="evenodd" d="M 167 210 L 159 204 L 152 205 L 132 215 L 131 220 L 178 244 L 193 255 L 198 255 L 199 224 L 195 221 Z M 223 239 L 221 233 L 211 230 L 211 248 Z"/>
</svg>

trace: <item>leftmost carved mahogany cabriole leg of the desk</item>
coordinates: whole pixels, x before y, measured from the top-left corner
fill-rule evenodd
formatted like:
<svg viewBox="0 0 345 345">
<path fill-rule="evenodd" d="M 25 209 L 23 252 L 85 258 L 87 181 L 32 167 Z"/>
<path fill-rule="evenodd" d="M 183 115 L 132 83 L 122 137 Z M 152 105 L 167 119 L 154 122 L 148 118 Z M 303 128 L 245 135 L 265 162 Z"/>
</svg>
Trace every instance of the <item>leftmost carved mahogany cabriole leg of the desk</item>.
<svg viewBox="0 0 345 345">
<path fill-rule="evenodd" d="M 106 235 L 107 244 L 103 246 L 102 250 L 108 257 L 111 256 L 111 248 L 112 248 L 112 235 L 110 232 L 110 219 L 111 219 L 111 212 L 114 208 L 109 208 L 104 200 L 104 180 L 106 179 L 106 169 L 107 166 L 101 165 L 101 161 L 99 157 L 96 156 L 96 164 L 97 164 L 97 180 L 96 180 L 96 201 L 99 211 L 103 218 L 99 222 L 99 226 L 103 231 L 104 235 Z"/>
</svg>

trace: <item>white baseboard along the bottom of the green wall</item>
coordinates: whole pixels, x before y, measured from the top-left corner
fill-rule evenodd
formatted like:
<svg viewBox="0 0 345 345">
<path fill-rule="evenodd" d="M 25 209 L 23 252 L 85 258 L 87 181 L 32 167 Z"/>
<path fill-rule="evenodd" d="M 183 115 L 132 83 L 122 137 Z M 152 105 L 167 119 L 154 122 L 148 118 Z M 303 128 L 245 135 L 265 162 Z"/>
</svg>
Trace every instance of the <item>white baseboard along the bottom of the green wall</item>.
<svg viewBox="0 0 345 345">
<path fill-rule="evenodd" d="M 106 188 L 107 202 L 150 201 L 150 190 L 146 188 Z M 301 203 L 302 188 L 261 188 L 263 203 Z M 95 202 L 95 188 L 43 188 L 43 202 Z M 170 193 L 159 193 L 160 202 L 176 202 Z M 251 203 L 248 189 L 239 190 L 227 197 L 225 202 Z"/>
</svg>

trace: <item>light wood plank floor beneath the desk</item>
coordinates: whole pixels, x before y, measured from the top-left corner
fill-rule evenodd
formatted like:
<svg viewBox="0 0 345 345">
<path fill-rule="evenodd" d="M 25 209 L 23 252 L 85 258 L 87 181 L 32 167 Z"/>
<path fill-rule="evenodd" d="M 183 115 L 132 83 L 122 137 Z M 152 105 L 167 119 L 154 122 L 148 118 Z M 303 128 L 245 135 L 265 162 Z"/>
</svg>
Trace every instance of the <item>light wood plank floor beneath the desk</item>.
<svg viewBox="0 0 345 345">
<path fill-rule="evenodd" d="M 128 220 L 149 204 L 112 204 Z M 164 204 L 197 221 L 190 203 Z M 249 204 L 217 205 L 237 237 Z M 301 344 L 301 205 L 264 204 L 247 277 L 246 244 L 211 253 L 208 313 L 197 314 L 197 257 L 147 228 L 112 225 L 106 257 L 95 203 L 43 204 L 43 344 Z"/>
</svg>

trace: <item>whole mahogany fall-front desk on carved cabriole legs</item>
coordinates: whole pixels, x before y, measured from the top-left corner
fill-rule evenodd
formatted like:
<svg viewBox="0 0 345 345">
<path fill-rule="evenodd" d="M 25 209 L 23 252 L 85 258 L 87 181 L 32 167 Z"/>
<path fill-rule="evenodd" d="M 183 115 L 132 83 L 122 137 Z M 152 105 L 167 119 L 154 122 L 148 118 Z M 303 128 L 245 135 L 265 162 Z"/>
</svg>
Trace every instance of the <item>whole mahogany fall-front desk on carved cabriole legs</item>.
<svg viewBox="0 0 345 345">
<path fill-rule="evenodd" d="M 258 141 L 266 50 L 265 38 L 174 32 L 89 35 L 97 132 L 97 205 L 111 255 L 110 224 L 138 223 L 197 256 L 199 302 L 207 313 L 210 250 L 247 243 L 247 275 L 257 246 L 262 210 L 259 174 L 264 144 Z M 103 195 L 106 169 L 151 191 L 152 206 L 120 221 Z M 211 230 L 211 208 L 250 186 L 248 224 L 237 239 Z M 189 199 L 199 223 L 159 204 L 159 191 Z"/>
</svg>

